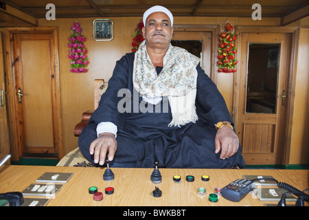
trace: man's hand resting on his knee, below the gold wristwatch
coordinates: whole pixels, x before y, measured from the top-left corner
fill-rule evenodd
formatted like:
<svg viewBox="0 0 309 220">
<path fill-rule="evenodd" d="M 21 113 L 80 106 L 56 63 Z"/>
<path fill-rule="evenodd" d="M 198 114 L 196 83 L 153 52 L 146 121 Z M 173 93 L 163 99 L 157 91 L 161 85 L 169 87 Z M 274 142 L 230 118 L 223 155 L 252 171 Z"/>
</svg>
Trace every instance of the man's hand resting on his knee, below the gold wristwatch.
<svg viewBox="0 0 309 220">
<path fill-rule="evenodd" d="M 222 126 L 221 129 L 218 129 L 216 138 L 215 138 L 215 153 L 219 153 L 221 150 L 220 158 L 226 159 L 238 151 L 239 148 L 239 139 L 236 133 L 229 128 L 228 126 Z"/>
</svg>

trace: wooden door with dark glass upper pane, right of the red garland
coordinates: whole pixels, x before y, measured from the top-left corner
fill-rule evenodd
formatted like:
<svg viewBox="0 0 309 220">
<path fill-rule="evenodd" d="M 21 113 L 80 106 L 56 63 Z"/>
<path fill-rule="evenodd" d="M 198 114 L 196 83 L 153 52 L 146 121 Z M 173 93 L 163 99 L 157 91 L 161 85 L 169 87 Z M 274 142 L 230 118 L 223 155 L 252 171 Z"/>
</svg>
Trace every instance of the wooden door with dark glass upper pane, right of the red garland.
<svg viewBox="0 0 309 220">
<path fill-rule="evenodd" d="M 248 165 L 284 164 L 290 35 L 242 33 L 237 133 Z"/>
</svg>

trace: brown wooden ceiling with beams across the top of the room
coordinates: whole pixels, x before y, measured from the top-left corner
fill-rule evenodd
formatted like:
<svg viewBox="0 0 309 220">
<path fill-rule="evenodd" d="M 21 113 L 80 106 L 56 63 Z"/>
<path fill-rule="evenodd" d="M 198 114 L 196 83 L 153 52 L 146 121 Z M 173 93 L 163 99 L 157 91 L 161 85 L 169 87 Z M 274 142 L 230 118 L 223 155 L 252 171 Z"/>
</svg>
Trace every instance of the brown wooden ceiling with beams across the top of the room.
<svg viewBox="0 0 309 220">
<path fill-rule="evenodd" d="M 45 18 L 48 3 L 56 18 L 142 17 L 152 5 L 163 5 L 174 17 L 251 17 L 254 3 L 262 17 L 281 18 L 282 25 L 308 17 L 308 0 L 0 0 L 0 27 L 36 25 Z"/>
</svg>

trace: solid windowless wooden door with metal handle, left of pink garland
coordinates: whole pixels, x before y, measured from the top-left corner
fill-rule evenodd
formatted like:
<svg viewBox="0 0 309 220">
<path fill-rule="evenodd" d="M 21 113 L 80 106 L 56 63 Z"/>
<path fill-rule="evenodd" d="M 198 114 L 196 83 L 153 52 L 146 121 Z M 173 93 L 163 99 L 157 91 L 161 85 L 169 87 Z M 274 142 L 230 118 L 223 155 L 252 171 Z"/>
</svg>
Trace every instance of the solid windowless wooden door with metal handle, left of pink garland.
<svg viewBox="0 0 309 220">
<path fill-rule="evenodd" d="M 5 30 L 14 160 L 62 157 L 56 28 Z"/>
</svg>

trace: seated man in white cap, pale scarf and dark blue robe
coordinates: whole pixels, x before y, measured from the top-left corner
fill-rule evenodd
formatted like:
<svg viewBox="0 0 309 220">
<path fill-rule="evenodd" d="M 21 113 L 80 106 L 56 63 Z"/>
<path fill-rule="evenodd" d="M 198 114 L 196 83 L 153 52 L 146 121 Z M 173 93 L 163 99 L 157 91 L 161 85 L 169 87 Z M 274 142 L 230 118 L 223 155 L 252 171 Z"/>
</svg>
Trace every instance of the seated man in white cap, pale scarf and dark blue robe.
<svg viewBox="0 0 309 220">
<path fill-rule="evenodd" d="M 172 13 L 157 5 L 143 21 L 145 41 L 117 61 L 80 135 L 84 157 L 98 166 L 107 158 L 118 167 L 153 167 L 159 160 L 169 168 L 242 168 L 225 100 L 199 59 L 170 45 Z"/>
</svg>

